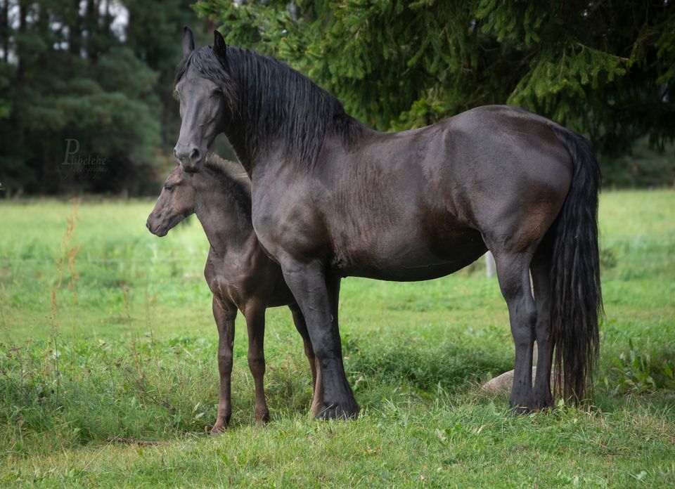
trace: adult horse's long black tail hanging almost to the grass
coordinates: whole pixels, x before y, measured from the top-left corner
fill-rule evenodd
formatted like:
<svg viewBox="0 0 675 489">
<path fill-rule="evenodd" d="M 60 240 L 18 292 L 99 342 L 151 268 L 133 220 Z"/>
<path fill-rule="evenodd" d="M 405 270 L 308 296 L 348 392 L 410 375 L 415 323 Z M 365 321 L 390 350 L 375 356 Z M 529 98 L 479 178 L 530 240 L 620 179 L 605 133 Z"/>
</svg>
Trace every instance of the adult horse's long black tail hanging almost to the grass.
<svg viewBox="0 0 675 489">
<path fill-rule="evenodd" d="M 590 387 L 598 356 L 598 320 L 603 315 L 598 250 L 600 167 L 591 145 L 577 133 L 553 127 L 570 152 L 574 174 L 553 225 L 551 335 L 555 348 L 554 390 L 579 402 Z"/>
</svg>

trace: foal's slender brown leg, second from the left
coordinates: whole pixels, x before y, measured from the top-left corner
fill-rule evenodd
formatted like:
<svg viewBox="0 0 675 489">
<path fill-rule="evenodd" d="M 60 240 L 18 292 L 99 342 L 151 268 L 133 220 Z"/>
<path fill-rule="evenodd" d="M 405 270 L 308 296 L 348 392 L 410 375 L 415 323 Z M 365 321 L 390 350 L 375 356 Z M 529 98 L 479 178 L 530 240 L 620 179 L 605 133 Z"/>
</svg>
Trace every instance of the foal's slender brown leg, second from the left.
<svg viewBox="0 0 675 489">
<path fill-rule="evenodd" d="M 269 410 L 265 401 L 263 377 L 265 375 L 265 308 L 261 304 L 247 304 L 244 317 L 248 327 L 248 367 L 255 384 L 255 423 L 269 422 Z"/>
</svg>

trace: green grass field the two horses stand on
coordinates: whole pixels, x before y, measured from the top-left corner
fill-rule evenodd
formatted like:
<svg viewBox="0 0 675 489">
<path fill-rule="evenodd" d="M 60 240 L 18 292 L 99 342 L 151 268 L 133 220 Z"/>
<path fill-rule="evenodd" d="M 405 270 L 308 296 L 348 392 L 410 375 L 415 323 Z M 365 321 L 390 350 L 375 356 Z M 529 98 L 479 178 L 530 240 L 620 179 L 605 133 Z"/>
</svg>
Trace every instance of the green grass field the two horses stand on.
<svg viewBox="0 0 675 489">
<path fill-rule="evenodd" d="M 342 282 L 361 417 L 318 422 L 302 341 L 267 312 L 272 421 L 256 427 L 238 318 L 231 429 L 196 219 L 153 202 L 0 202 L 0 485 L 675 486 L 675 192 L 605 193 L 606 318 L 593 405 L 514 417 L 479 386 L 513 368 L 482 262 L 440 280 Z M 113 437 L 156 441 L 118 443 Z"/>
</svg>

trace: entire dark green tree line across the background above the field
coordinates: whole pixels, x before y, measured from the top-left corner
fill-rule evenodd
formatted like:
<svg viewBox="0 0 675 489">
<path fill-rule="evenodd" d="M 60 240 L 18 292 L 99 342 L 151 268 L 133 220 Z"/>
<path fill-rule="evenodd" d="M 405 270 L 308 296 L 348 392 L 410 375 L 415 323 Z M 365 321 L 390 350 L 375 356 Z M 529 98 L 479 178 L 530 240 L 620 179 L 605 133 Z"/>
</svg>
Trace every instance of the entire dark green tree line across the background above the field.
<svg viewBox="0 0 675 489">
<path fill-rule="evenodd" d="M 608 185 L 675 181 L 671 0 L 211 0 L 193 5 L 201 21 L 179 0 L 1 5 L 5 187 L 154 191 L 173 164 L 184 24 L 285 60 L 377 129 L 520 105 L 591 138 Z M 59 175 L 65 138 L 106 157 L 105 178 Z"/>
</svg>

